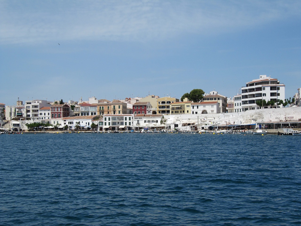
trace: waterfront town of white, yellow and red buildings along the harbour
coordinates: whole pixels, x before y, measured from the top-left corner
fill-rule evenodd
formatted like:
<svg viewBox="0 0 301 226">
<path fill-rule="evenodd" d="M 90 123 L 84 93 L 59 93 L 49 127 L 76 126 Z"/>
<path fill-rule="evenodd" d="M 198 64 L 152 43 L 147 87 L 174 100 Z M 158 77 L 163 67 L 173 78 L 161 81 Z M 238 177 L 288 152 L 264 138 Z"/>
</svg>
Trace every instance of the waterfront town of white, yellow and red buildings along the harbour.
<svg viewBox="0 0 301 226">
<path fill-rule="evenodd" d="M 16 105 L 0 104 L 1 132 L 300 131 L 300 89 L 288 99 L 285 84 L 260 75 L 233 97 L 213 90 L 195 101 L 185 95 L 181 99 L 148 95 L 122 100 L 92 96 L 68 102 L 18 98 Z"/>
</svg>

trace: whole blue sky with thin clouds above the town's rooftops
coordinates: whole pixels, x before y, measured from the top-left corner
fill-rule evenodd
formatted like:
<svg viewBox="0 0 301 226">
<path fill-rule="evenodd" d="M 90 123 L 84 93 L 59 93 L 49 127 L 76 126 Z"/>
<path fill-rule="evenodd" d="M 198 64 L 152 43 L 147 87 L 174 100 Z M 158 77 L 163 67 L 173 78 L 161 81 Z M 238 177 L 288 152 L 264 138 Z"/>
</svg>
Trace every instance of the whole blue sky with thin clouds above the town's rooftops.
<svg viewBox="0 0 301 226">
<path fill-rule="evenodd" d="M 0 0 L 0 102 L 301 87 L 301 1 Z M 60 45 L 58 45 L 60 43 Z"/>
</svg>

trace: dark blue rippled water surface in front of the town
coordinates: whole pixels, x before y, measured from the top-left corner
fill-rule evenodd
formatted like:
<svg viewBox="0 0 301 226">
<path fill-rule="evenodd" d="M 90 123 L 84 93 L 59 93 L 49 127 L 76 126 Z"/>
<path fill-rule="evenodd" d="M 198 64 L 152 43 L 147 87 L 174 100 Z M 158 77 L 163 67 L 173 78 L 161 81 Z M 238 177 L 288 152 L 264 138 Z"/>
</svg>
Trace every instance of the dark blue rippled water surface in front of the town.
<svg viewBox="0 0 301 226">
<path fill-rule="evenodd" d="M 298 225 L 301 137 L 0 135 L 0 225 Z"/>
</svg>

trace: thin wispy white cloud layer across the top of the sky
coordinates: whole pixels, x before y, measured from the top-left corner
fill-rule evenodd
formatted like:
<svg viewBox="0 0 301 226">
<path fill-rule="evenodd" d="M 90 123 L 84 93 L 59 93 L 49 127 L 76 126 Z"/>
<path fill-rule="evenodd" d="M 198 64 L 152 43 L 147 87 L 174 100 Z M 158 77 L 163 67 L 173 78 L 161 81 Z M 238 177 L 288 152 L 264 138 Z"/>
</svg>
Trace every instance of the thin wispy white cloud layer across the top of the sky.
<svg viewBox="0 0 301 226">
<path fill-rule="evenodd" d="M 0 42 L 168 39 L 299 17 L 300 1 L 2 1 Z"/>
</svg>

